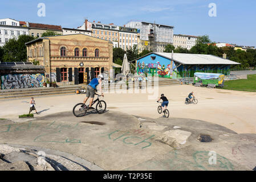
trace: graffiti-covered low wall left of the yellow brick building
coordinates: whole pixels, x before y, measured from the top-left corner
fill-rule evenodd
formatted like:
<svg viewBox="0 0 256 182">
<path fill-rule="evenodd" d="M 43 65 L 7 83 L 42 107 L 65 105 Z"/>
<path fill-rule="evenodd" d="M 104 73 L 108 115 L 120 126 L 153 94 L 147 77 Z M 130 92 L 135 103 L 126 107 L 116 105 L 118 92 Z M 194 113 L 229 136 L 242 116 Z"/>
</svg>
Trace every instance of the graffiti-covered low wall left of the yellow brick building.
<svg viewBox="0 0 256 182">
<path fill-rule="evenodd" d="M 43 74 L 8 74 L 1 76 L 1 89 L 19 89 L 42 87 L 44 82 Z"/>
</svg>

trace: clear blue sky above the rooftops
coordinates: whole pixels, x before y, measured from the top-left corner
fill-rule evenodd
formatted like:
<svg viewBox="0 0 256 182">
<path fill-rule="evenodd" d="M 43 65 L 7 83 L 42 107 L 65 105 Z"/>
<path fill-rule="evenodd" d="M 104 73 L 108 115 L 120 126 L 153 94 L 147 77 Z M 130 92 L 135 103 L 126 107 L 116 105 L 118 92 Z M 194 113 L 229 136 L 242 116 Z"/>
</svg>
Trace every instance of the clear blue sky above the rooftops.
<svg viewBox="0 0 256 182">
<path fill-rule="evenodd" d="M 38 3 L 46 16 L 39 17 Z M 210 17 L 209 3 L 216 3 L 217 17 Z M 143 20 L 174 26 L 174 34 L 209 35 L 214 42 L 256 46 L 256 1 L 234 0 L 12 0 L 1 1 L 0 18 L 77 28 L 84 18 L 123 26 Z"/>
</svg>

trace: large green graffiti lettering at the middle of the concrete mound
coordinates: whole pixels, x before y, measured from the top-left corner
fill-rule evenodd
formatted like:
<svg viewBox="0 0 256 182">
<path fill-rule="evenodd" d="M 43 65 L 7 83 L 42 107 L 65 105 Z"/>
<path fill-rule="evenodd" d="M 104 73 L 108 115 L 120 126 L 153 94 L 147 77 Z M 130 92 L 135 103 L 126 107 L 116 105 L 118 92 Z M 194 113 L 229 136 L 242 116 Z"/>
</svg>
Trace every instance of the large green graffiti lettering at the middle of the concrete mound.
<svg viewBox="0 0 256 182">
<path fill-rule="evenodd" d="M 133 133 L 136 133 L 136 131 L 133 131 Z M 124 144 L 141 146 L 141 148 L 150 147 L 152 143 L 149 142 L 148 140 L 155 137 L 155 135 L 151 135 L 150 137 L 141 138 L 133 135 L 129 131 L 127 131 L 126 133 L 120 134 L 119 130 L 113 131 L 111 133 L 101 133 L 101 134 L 105 134 L 105 135 L 101 135 L 100 137 L 107 137 L 109 140 L 112 140 L 113 142 L 115 142 L 116 140 L 120 140 Z"/>
</svg>

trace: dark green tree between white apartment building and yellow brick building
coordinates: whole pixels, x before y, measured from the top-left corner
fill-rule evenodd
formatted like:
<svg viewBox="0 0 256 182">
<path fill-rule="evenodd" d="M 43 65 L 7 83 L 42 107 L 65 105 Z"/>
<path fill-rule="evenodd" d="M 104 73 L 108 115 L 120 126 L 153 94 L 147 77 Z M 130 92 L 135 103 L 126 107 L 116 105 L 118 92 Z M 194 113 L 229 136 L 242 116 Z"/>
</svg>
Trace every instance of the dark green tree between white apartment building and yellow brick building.
<svg viewBox="0 0 256 182">
<path fill-rule="evenodd" d="M 18 40 L 15 38 L 9 39 L 9 42 L 3 46 L 3 61 L 19 62 L 27 60 L 27 47 L 25 43 L 34 40 L 34 37 L 29 35 L 20 35 Z"/>
</svg>

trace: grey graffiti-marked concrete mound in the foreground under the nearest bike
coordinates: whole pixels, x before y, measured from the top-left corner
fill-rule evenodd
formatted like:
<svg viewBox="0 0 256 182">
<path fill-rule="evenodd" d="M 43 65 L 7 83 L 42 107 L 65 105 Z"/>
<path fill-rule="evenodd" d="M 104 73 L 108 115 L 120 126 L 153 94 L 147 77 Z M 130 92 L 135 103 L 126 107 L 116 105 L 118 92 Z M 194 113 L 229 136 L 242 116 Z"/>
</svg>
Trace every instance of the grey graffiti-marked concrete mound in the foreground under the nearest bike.
<svg viewBox="0 0 256 182">
<path fill-rule="evenodd" d="M 212 142 L 197 138 L 208 134 Z M 194 119 L 135 117 L 107 111 L 75 118 L 57 113 L 0 125 L 1 143 L 51 148 L 105 170 L 251 170 L 255 134 L 237 134 Z M 209 164 L 209 152 L 217 164 Z M 90 164 L 90 165 L 89 165 Z"/>
</svg>

